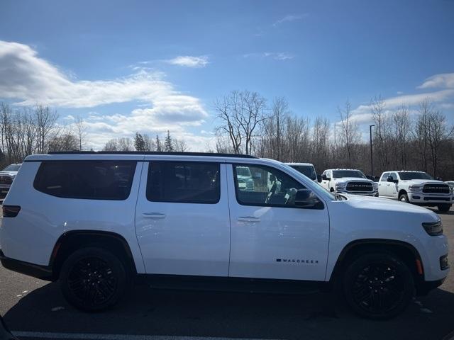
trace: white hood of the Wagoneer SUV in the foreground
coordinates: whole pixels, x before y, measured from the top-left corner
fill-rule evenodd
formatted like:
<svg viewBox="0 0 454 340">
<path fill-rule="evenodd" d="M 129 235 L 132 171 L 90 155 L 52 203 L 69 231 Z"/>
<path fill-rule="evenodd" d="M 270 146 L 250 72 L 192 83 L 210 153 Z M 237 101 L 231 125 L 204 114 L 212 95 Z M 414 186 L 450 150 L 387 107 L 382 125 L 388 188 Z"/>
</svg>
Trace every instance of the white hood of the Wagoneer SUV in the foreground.
<svg viewBox="0 0 454 340">
<path fill-rule="evenodd" d="M 419 205 L 399 202 L 398 200 L 389 200 L 388 198 L 356 196 L 348 194 L 345 196 L 347 196 L 348 198 L 347 203 L 351 205 L 353 208 L 383 212 L 412 213 L 431 216 L 433 222 L 439 220 L 439 217 L 435 212 L 420 207 Z"/>
</svg>

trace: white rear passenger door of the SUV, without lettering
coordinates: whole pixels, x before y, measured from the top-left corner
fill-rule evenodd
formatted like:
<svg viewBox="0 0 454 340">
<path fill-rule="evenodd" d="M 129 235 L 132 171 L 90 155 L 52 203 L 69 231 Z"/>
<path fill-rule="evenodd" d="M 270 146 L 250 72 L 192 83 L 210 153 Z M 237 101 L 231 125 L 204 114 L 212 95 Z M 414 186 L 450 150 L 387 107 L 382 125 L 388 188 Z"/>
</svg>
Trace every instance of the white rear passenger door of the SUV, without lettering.
<svg viewBox="0 0 454 340">
<path fill-rule="evenodd" d="M 151 156 L 146 158 L 153 162 Z M 145 270 L 158 274 L 228 276 L 230 225 L 225 164 L 211 162 L 218 164 L 220 172 L 210 172 L 207 179 L 206 172 L 196 166 L 184 166 L 187 163 L 172 166 L 174 172 L 165 177 L 165 188 L 160 187 L 159 181 L 153 181 L 160 173 L 152 172 L 149 178 L 150 163 L 145 162 L 143 166 L 135 225 Z M 167 171 L 162 176 L 168 175 L 168 169 L 160 170 Z M 218 202 L 201 203 L 214 194 L 212 187 L 205 192 L 201 189 L 215 181 L 220 186 Z M 148 200 L 170 200 L 172 195 L 179 195 L 186 203 Z M 194 203 L 187 203 L 189 200 Z"/>
</svg>

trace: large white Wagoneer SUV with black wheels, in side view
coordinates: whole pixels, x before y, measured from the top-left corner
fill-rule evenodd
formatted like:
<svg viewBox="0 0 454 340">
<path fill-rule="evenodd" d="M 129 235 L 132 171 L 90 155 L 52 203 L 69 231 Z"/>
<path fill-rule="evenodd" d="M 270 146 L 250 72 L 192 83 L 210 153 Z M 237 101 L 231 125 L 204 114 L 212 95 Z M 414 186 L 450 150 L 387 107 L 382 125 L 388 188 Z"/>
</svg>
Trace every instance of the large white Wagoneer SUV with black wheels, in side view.
<svg viewBox="0 0 454 340">
<path fill-rule="evenodd" d="M 239 186 L 245 167 L 250 190 Z M 333 195 L 290 166 L 250 156 L 33 155 L 3 216 L 3 266 L 60 280 L 82 310 L 111 307 L 142 274 L 154 286 L 199 289 L 337 283 L 355 312 L 384 319 L 415 288 L 427 293 L 448 275 L 434 212 Z"/>
</svg>

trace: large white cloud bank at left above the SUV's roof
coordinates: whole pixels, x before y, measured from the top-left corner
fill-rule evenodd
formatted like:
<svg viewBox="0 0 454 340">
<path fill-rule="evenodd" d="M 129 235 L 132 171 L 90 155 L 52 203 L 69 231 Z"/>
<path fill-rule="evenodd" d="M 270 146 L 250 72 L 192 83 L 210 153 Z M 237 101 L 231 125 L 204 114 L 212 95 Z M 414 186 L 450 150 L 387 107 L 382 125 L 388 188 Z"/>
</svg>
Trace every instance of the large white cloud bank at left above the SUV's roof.
<svg viewBox="0 0 454 340">
<path fill-rule="evenodd" d="M 211 137 L 185 130 L 201 125 L 209 117 L 199 98 L 179 93 L 164 77 L 162 72 L 140 69 L 121 79 L 79 81 L 38 57 L 28 45 L 0 40 L 0 98 L 12 99 L 16 105 L 92 108 L 129 101 L 147 104 L 144 107 L 138 103 L 138 108 L 128 114 L 90 111 L 85 119 L 88 139 L 95 149 L 101 149 L 111 138 L 133 137 L 136 131 L 152 135 L 170 130 L 190 147 L 205 149 L 209 145 Z M 63 120 L 70 123 L 74 116 L 66 115 Z"/>
</svg>

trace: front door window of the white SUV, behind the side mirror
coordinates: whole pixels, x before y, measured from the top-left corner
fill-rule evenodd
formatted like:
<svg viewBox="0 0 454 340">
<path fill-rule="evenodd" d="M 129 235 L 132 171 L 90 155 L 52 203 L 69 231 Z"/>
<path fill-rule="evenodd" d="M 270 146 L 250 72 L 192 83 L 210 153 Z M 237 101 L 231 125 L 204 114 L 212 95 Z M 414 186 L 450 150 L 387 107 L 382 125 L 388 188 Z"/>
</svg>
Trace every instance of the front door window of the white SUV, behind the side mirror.
<svg viewBox="0 0 454 340">
<path fill-rule="evenodd" d="M 243 182 L 238 169 L 248 167 L 252 179 Z M 243 205 L 294 207 L 294 198 L 304 186 L 284 172 L 270 166 L 233 165 L 236 198 Z"/>
</svg>

